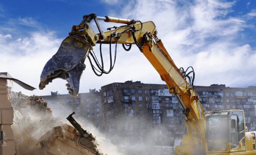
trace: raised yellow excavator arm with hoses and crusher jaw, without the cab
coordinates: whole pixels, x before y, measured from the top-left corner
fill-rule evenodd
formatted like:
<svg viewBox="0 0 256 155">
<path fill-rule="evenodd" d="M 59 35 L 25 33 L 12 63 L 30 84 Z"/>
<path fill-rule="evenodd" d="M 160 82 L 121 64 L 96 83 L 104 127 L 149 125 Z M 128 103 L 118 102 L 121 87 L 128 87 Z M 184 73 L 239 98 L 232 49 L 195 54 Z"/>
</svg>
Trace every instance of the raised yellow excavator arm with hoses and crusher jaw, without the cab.
<svg viewBox="0 0 256 155">
<path fill-rule="evenodd" d="M 99 33 L 92 30 L 90 24 L 92 20 L 95 21 Z M 98 20 L 124 25 L 102 32 Z M 62 41 L 57 53 L 46 63 L 41 74 L 39 89 L 43 89 L 53 79 L 61 78 L 67 80 L 69 94 L 76 96 L 79 91 L 79 79 L 85 69 L 84 61 L 86 58 L 90 60 L 89 55 L 97 44 L 123 44 L 128 47 L 135 44 L 138 46 L 161 79 L 166 82 L 170 93 L 175 94 L 186 116 L 188 135 L 183 137 L 175 153 L 205 154 L 204 108 L 193 89 L 193 83 L 186 80 L 185 72 L 174 64 L 162 41 L 157 38 L 155 24 L 151 21 L 142 23 L 109 16 L 98 17 L 96 14 L 85 15 L 79 25 L 73 26 L 69 36 Z M 198 152 L 198 150 L 201 151 Z"/>
</svg>

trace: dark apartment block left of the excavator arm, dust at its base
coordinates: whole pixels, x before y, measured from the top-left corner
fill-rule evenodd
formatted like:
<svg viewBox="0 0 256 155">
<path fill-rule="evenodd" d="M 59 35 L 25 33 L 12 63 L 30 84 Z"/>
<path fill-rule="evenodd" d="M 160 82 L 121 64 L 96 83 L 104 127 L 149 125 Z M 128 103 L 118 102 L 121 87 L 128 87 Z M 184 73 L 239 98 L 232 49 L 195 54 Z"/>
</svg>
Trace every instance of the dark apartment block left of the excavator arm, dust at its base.
<svg viewBox="0 0 256 155">
<path fill-rule="evenodd" d="M 179 124 L 179 133 L 185 132 L 181 107 L 165 84 L 126 81 L 102 86 L 101 92 L 102 125 L 109 135 L 115 133 L 118 143 L 170 145 Z"/>
</svg>

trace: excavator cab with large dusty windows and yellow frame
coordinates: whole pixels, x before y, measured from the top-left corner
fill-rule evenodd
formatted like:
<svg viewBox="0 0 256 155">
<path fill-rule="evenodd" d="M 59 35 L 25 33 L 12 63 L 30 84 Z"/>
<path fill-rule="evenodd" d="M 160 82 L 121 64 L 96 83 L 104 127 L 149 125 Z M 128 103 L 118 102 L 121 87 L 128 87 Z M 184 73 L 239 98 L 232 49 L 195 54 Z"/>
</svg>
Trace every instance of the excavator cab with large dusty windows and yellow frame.
<svg viewBox="0 0 256 155">
<path fill-rule="evenodd" d="M 243 110 L 212 111 L 206 118 L 206 150 L 233 152 L 245 147 Z"/>
</svg>

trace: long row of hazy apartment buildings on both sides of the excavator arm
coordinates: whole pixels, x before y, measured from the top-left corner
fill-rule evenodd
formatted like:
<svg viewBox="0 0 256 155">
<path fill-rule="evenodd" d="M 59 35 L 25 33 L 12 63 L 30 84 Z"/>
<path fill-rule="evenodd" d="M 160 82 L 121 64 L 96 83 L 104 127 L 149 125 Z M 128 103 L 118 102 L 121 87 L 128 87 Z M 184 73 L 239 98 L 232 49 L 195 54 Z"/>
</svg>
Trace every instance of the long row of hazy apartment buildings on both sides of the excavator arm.
<svg viewBox="0 0 256 155">
<path fill-rule="evenodd" d="M 224 84 L 195 86 L 206 111 L 242 109 L 249 130 L 256 130 L 256 87 L 230 88 Z M 101 91 L 79 93 L 78 98 L 52 93 L 46 101 L 60 102 L 91 120 L 108 139 L 120 145 L 171 146 L 186 134 L 182 108 L 165 84 L 140 81 L 104 85 Z"/>
</svg>

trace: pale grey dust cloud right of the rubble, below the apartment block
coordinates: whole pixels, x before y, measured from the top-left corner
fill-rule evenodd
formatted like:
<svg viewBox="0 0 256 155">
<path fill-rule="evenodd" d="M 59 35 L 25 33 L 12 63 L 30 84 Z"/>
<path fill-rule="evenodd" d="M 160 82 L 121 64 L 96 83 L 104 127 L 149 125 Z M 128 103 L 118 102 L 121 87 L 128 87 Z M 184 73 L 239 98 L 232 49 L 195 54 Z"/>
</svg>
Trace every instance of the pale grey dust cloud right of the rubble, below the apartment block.
<svg viewBox="0 0 256 155">
<path fill-rule="evenodd" d="M 82 104 L 82 103 L 81 103 Z M 53 111 L 55 117 L 61 118 L 63 122 L 66 121 L 66 117 L 73 113 L 74 110 L 71 109 L 66 103 L 58 102 L 48 102 L 49 107 Z M 66 106 L 65 106 L 66 105 Z M 163 149 L 162 146 L 156 145 L 156 139 L 159 139 L 164 132 L 167 132 L 167 128 L 158 124 L 157 127 L 150 127 L 151 121 L 145 118 L 139 117 L 128 117 L 125 115 L 118 115 L 118 118 L 113 120 L 115 122 L 116 132 L 109 134 L 107 129 L 96 127 L 90 122 L 89 119 L 81 117 L 79 112 L 76 112 L 73 117 L 76 121 L 81 124 L 84 130 L 92 133 L 95 136 L 96 143 L 98 144 L 97 149 L 99 152 L 108 155 L 158 155 L 158 154 L 171 154 L 172 144 L 170 143 Z M 68 123 L 67 121 L 65 123 Z M 128 133 L 125 133 L 128 132 Z M 134 138 L 132 143 L 126 142 L 125 138 L 127 134 Z M 138 137 L 140 135 L 145 135 L 145 137 Z M 125 137 L 126 136 L 126 137 Z M 131 138 L 131 139 L 132 139 Z M 170 137 L 171 139 L 171 137 Z M 171 142 L 173 142 L 171 140 Z"/>
</svg>

